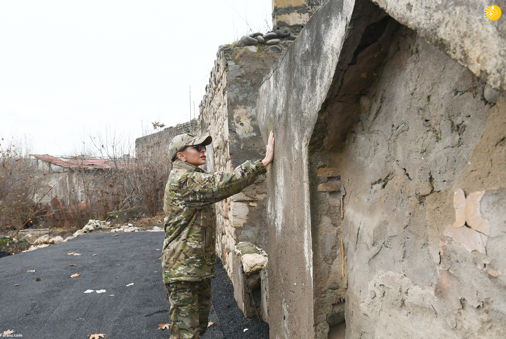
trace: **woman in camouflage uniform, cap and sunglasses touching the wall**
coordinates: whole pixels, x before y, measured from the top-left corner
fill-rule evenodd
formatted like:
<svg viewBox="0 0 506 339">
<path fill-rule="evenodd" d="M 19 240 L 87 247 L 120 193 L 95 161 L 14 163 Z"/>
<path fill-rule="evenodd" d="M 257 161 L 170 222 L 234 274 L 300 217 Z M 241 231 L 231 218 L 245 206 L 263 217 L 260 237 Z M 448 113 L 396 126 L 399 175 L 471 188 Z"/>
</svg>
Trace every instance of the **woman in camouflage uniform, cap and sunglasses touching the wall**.
<svg viewBox="0 0 506 339">
<path fill-rule="evenodd" d="M 213 174 L 205 164 L 205 146 L 211 136 L 181 134 L 169 145 L 172 171 L 165 187 L 165 241 L 163 279 L 171 303 L 171 338 L 199 338 L 208 327 L 211 278 L 215 276 L 216 217 L 212 204 L 241 192 L 274 156 L 270 132 L 263 160 L 248 160 L 233 172 Z"/>
</svg>

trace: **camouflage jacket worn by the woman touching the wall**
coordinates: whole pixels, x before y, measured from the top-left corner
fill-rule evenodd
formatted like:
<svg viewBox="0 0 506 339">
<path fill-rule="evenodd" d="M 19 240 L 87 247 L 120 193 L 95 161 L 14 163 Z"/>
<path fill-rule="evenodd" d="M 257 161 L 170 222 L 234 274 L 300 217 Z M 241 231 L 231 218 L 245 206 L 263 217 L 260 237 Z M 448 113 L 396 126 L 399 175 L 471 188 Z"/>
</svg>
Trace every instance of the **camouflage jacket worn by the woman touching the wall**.
<svg viewBox="0 0 506 339">
<path fill-rule="evenodd" d="M 214 174 L 174 161 L 164 198 L 165 284 L 214 277 L 216 215 L 212 204 L 241 192 L 264 173 L 265 166 L 260 160 L 248 160 L 234 172 Z"/>
</svg>

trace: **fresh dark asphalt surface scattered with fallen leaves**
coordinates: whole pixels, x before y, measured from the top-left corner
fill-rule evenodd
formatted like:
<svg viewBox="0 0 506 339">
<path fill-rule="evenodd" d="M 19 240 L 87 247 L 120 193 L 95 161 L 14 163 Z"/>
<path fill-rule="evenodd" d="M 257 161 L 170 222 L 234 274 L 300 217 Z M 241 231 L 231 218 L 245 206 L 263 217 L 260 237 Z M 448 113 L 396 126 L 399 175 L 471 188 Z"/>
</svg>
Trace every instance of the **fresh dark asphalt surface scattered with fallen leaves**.
<svg viewBox="0 0 506 339">
<path fill-rule="evenodd" d="M 14 330 L 12 337 L 24 339 L 169 338 L 169 330 L 158 329 L 169 323 L 170 309 L 158 259 L 163 239 L 164 232 L 90 233 L 0 258 L 0 336 Z M 81 276 L 71 278 L 75 273 Z M 106 291 L 84 293 L 89 289 Z M 220 262 L 212 303 L 214 324 L 203 339 L 269 337 L 266 323 L 244 318 Z"/>
</svg>

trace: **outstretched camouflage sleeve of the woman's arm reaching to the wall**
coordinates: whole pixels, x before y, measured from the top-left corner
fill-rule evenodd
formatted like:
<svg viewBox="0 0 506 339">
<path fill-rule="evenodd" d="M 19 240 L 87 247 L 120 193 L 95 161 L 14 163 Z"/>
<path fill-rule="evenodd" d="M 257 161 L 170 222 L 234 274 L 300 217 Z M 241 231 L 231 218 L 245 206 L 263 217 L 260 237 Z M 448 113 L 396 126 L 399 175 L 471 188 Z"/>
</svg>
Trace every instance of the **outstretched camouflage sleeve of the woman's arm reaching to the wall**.
<svg viewBox="0 0 506 339">
<path fill-rule="evenodd" d="M 193 172 L 187 177 L 187 189 L 183 190 L 182 198 L 189 208 L 197 209 L 241 192 L 266 172 L 260 160 L 248 160 L 233 172 Z"/>
</svg>

